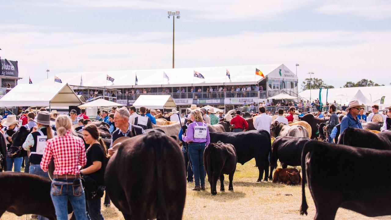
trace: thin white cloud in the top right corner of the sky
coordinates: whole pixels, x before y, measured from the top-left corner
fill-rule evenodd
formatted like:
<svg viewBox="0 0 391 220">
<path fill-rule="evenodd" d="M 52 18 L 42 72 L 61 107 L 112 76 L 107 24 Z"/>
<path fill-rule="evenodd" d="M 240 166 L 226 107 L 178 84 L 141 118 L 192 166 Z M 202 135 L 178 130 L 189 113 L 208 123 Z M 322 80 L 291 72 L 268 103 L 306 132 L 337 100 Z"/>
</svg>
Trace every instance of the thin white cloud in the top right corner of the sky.
<svg viewBox="0 0 391 220">
<path fill-rule="evenodd" d="M 353 14 L 373 20 L 391 17 L 391 1 L 389 0 L 339 0 L 325 2 L 316 9 L 324 14 Z"/>
</svg>

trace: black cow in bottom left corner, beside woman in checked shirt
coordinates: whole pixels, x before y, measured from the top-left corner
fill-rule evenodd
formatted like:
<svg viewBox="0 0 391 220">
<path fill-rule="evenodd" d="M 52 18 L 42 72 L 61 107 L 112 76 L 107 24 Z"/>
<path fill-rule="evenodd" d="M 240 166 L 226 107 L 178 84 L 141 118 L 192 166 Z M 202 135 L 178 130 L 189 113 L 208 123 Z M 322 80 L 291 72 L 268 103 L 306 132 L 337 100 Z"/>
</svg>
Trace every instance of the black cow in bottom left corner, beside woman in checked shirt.
<svg viewBox="0 0 391 220">
<path fill-rule="evenodd" d="M 50 184 L 49 179 L 30 173 L 0 173 L 0 218 L 8 211 L 17 216 L 36 214 L 56 219 Z M 71 212 L 68 202 L 68 213 Z"/>
</svg>

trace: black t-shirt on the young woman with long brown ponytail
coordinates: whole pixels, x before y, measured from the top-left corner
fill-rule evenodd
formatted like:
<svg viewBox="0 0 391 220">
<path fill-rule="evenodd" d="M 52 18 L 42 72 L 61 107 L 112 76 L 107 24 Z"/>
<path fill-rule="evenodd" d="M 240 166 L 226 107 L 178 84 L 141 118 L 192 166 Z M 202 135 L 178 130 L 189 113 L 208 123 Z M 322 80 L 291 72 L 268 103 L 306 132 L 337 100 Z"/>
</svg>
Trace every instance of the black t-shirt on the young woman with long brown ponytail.
<svg viewBox="0 0 391 220">
<path fill-rule="evenodd" d="M 91 166 L 94 161 L 102 162 L 102 166 L 98 171 L 95 171 L 87 175 L 92 179 L 94 179 L 95 181 L 97 181 L 99 186 L 103 186 L 104 185 L 104 169 L 103 169 L 104 154 L 102 148 L 100 148 L 100 144 L 92 144 L 90 149 L 86 151 L 86 155 L 87 155 L 87 163 L 86 166 L 84 166 L 84 168 Z"/>
</svg>

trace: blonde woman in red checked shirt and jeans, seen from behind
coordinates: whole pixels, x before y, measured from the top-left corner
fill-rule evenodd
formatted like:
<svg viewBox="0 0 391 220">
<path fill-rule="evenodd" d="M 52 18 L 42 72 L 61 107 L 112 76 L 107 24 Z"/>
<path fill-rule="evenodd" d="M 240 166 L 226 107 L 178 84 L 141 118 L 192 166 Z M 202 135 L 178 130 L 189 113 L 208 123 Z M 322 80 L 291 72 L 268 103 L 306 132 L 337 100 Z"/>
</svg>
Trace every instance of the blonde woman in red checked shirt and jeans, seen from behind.
<svg viewBox="0 0 391 220">
<path fill-rule="evenodd" d="M 78 166 L 86 165 L 83 139 L 72 135 L 72 121 L 67 115 L 56 119 L 57 135 L 46 142 L 41 169 L 48 170 L 50 159 L 54 158 L 54 172 L 50 195 L 57 220 L 68 220 L 68 199 L 77 220 L 87 220 L 86 200 L 80 180 Z"/>
</svg>

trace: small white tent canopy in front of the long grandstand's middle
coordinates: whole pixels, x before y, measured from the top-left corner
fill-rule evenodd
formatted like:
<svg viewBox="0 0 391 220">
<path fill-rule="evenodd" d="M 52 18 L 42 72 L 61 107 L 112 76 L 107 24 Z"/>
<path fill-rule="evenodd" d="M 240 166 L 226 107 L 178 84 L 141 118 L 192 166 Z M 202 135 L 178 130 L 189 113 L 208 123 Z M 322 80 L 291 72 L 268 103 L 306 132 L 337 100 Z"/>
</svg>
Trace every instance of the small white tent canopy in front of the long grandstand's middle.
<svg viewBox="0 0 391 220">
<path fill-rule="evenodd" d="M 176 104 L 171 96 L 169 95 L 141 95 L 138 99 L 133 103 L 133 106 L 136 108 L 140 108 L 141 106 L 145 106 L 147 108 L 155 108 L 155 109 L 174 109 L 176 108 Z"/>
</svg>

